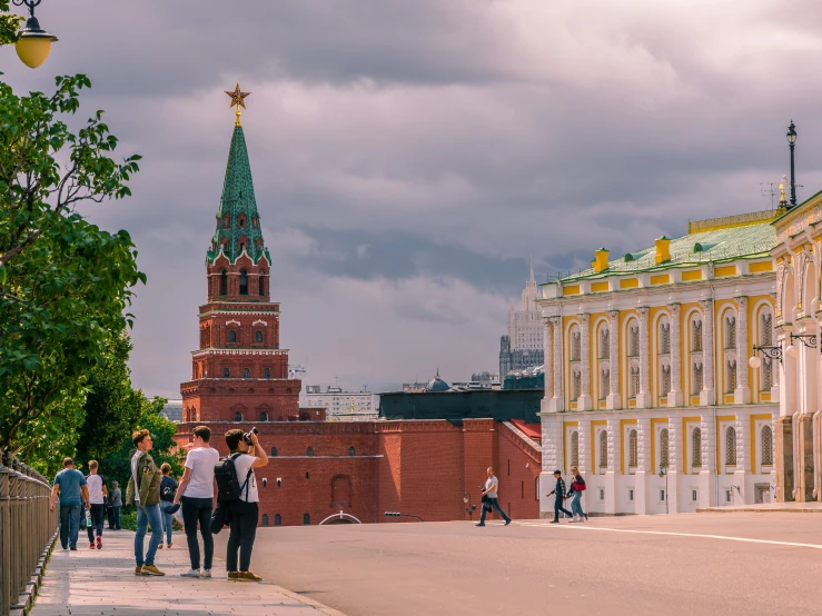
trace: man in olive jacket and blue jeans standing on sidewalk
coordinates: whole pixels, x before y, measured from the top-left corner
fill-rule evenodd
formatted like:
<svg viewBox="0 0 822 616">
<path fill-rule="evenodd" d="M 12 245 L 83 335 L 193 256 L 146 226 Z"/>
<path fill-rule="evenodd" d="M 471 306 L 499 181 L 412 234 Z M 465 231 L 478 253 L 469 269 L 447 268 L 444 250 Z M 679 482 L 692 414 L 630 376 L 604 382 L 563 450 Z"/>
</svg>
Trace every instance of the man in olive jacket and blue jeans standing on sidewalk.
<svg viewBox="0 0 822 616">
<path fill-rule="evenodd" d="M 131 477 L 126 487 L 126 503 L 137 507 L 137 534 L 135 535 L 135 575 L 166 575 L 155 566 L 157 546 L 162 540 L 160 516 L 160 469 L 149 454 L 153 444 L 148 430 L 131 435 L 137 449 L 131 451 Z M 143 559 L 146 531 L 151 525 L 151 538 Z"/>
</svg>

